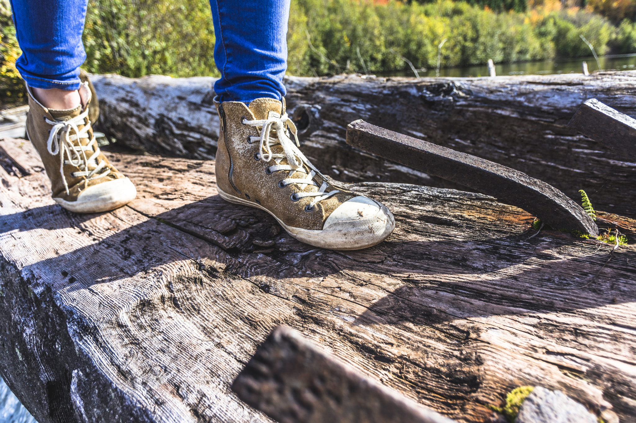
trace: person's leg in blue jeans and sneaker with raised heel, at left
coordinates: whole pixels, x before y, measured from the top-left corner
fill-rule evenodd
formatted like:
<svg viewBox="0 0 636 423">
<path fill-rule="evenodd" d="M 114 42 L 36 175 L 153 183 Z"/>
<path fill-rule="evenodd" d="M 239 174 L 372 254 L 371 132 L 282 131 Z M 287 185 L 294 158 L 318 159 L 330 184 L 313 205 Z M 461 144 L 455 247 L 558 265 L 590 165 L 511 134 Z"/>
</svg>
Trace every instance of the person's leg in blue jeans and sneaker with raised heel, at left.
<svg viewBox="0 0 636 423">
<path fill-rule="evenodd" d="M 87 0 L 11 0 L 27 83 L 27 136 L 51 181 L 53 200 L 74 212 L 115 209 L 135 198 L 135 186 L 104 156 L 93 135 L 81 34 Z"/>
</svg>

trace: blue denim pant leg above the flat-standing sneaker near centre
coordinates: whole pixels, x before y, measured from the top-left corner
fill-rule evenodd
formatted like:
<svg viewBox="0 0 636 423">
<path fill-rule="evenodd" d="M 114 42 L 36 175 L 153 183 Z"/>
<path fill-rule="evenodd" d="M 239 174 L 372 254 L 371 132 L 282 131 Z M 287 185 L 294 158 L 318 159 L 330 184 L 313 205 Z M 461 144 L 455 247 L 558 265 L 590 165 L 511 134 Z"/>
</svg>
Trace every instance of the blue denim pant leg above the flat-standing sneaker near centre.
<svg viewBox="0 0 636 423">
<path fill-rule="evenodd" d="M 220 101 L 284 97 L 289 0 L 210 0 L 210 5 Z"/>
</svg>

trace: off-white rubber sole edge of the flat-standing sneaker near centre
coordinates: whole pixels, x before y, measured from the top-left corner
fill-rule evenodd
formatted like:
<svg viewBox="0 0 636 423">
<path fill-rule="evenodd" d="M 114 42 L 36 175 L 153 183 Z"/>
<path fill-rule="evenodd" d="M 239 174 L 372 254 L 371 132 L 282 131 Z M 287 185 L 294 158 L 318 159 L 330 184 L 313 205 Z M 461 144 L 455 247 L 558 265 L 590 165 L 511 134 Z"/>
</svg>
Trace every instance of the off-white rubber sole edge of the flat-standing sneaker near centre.
<svg viewBox="0 0 636 423">
<path fill-rule="evenodd" d="M 387 237 L 391 235 L 391 232 L 395 229 L 395 219 L 393 218 L 393 214 L 385 205 L 380 203 L 377 204 L 382 211 L 382 216 L 371 216 L 369 218 L 353 221 L 340 221 L 332 223 L 322 230 L 310 230 L 286 225 L 283 221 L 277 218 L 275 214 L 262 205 L 254 204 L 250 201 L 244 200 L 243 198 L 228 194 L 221 190 L 218 186 L 217 190 L 219 191 L 221 198 L 228 202 L 249 205 L 249 207 L 254 207 L 268 212 L 278 221 L 280 226 L 289 233 L 289 235 L 314 247 L 333 250 L 357 250 L 373 247 L 387 239 Z"/>
</svg>

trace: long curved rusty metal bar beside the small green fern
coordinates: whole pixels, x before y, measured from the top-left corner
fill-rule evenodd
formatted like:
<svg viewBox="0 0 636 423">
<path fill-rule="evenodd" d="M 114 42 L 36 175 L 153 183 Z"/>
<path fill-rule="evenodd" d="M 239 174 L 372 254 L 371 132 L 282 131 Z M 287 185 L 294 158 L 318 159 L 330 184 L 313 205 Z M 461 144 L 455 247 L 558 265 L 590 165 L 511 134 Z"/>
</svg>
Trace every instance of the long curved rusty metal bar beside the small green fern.
<svg viewBox="0 0 636 423">
<path fill-rule="evenodd" d="M 520 207 L 552 228 L 598 235 L 597 225 L 574 200 L 518 170 L 363 120 L 347 126 L 347 144 L 492 195 L 503 203 Z"/>
</svg>

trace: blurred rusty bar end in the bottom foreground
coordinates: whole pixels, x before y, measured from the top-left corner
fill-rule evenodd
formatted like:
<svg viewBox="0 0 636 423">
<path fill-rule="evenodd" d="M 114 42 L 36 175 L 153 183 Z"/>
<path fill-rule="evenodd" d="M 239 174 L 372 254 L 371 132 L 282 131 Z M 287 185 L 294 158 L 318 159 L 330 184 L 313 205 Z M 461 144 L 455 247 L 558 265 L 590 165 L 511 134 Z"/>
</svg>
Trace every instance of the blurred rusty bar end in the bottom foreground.
<svg viewBox="0 0 636 423">
<path fill-rule="evenodd" d="M 278 326 L 232 384 L 280 423 L 452 423 Z"/>
</svg>

